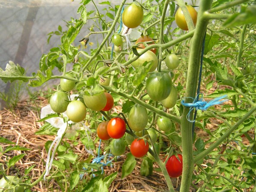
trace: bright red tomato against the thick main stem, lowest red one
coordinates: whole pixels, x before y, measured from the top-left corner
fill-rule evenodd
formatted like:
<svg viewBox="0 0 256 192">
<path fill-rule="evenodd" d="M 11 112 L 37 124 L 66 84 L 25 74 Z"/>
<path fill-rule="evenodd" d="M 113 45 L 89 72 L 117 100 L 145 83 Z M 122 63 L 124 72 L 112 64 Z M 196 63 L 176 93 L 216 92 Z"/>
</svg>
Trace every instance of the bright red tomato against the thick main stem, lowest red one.
<svg viewBox="0 0 256 192">
<path fill-rule="evenodd" d="M 166 169 L 170 177 L 180 177 L 182 174 L 182 155 L 177 154 L 180 160 L 175 155 L 172 155 L 166 162 Z"/>
</svg>

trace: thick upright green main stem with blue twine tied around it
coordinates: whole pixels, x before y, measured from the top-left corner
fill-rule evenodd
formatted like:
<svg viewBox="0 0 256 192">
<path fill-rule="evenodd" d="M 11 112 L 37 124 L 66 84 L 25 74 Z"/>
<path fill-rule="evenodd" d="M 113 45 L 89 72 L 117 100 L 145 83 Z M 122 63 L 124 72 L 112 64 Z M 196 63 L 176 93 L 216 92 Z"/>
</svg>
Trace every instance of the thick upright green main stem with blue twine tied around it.
<svg viewBox="0 0 256 192">
<path fill-rule="evenodd" d="M 201 47 L 203 44 L 204 34 L 207 29 L 208 20 L 203 17 L 204 12 L 209 10 L 212 0 L 202 0 L 199 6 L 198 21 L 195 33 L 192 38 L 192 44 L 189 52 L 188 76 L 186 79 L 185 97 L 195 98 L 197 90 L 198 73 L 200 68 Z M 199 48 L 199 49 L 198 49 Z M 186 103 L 192 102 L 191 99 L 185 99 Z M 192 142 L 192 122 L 186 119 L 189 108 L 185 107 L 181 117 L 181 138 L 183 150 L 183 173 L 181 179 L 180 192 L 188 192 L 192 180 L 194 168 L 193 159 L 193 142 Z"/>
</svg>

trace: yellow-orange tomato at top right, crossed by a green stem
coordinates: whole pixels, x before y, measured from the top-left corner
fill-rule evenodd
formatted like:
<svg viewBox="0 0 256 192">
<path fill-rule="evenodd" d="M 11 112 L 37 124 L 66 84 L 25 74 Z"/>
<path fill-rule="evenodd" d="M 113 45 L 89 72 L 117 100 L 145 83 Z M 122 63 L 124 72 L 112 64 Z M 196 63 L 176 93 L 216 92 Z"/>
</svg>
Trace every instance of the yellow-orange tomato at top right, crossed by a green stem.
<svg viewBox="0 0 256 192">
<path fill-rule="evenodd" d="M 186 8 L 188 9 L 189 11 L 189 14 L 192 18 L 192 21 L 194 23 L 194 26 L 196 24 L 196 20 L 197 20 L 197 12 L 196 10 L 194 9 L 194 7 L 190 6 L 190 5 L 186 5 Z M 175 21 L 177 23 L 177 26 L 180 28 L 180 29 L 183 29 L 185 31 L 189 30 L 188 29 L 188 25 L 186 23 L 186 19 L 185 19 L 185 16 L 181 10 L 181 8 L 179 7 L 176 14 L 175 14 Z"/>
</svg>

